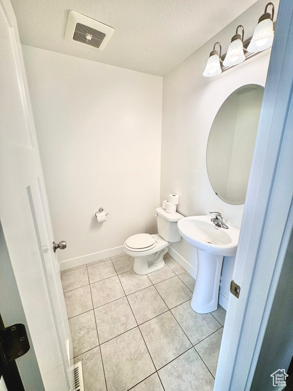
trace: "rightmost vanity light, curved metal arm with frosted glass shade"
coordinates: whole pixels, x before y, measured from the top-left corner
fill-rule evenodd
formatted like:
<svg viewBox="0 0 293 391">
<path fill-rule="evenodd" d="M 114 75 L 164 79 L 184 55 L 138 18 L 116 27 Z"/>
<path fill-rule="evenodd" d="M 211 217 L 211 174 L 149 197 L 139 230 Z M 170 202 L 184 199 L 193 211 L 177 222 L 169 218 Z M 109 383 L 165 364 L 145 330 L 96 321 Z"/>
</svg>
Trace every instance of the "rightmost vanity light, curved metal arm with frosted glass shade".
<svg viewBox="0 0 293 391">
<path fill-rule="evenodd" d="M 272 7 L 272 14 L 268 11 L 268 7 Z M 253 53 L 266 50 L 273 45 L 274 39 L 274 19 L 275 8 L 273 3 L 268 3 L 265 8 L 265 13 L 258 19 L 258 24 L 255 27 L 250 44 L 247 50 Z"/>
</svg>

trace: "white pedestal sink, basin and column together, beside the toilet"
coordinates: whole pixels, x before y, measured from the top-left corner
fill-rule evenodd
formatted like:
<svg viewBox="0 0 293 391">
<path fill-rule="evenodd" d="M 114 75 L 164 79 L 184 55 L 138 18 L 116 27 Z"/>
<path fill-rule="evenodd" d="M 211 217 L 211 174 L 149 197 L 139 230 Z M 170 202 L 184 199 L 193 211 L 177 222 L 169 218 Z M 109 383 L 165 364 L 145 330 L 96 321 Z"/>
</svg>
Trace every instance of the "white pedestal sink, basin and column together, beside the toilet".
<svg viewBox="0 0 293 391">
<path fill-rule="evenodd" d="M 183 239 L 197 248 L 198 266 L 191 308 L 199 314 L 217 310 L 223 257 L 236 255 L 240 231 L 228 227 L 217 227 L 211 216 L 184 217 L 178 221 Z"/>
</svg>

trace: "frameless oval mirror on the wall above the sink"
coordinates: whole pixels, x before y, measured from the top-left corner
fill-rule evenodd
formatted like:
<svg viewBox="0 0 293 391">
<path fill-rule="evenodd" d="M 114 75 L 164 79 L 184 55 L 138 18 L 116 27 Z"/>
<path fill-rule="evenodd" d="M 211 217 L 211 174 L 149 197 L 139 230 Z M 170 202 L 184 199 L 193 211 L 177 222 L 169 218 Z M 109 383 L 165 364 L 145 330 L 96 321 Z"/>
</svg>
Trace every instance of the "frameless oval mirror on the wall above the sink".
<svg viewBox="0 0 293 391">
<path fill-rule="evenodd" d="M 240 87 L 224 101 L 211 127 L 207 167 L 221 200 L 244 204 L 264 88 Z"/>
</svg>

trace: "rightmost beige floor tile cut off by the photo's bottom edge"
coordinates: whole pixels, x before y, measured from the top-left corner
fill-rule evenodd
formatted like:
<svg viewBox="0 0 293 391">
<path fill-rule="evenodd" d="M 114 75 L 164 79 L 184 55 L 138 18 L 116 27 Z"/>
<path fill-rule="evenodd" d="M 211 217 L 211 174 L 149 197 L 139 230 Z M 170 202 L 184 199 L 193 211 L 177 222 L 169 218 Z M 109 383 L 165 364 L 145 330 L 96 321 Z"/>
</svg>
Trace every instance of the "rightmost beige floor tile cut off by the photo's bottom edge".
<svg viewBox="0 0 293 391">
<path fill-rule="evenodd" d="M 167 391 L 213 391 L 214 378 L 192 348 L 158 371 Z"/>
</svg>

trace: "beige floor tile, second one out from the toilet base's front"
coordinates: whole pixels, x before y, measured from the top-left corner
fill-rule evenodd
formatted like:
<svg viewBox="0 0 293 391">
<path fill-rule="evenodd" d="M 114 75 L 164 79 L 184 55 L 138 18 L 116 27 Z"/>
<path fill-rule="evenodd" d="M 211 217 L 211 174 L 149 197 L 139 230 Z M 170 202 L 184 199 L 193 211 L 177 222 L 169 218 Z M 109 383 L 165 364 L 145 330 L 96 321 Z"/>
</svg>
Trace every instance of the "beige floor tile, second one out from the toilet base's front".
<svg viewBox="0 0 293 391">
<path fill-rule="evenodd" d="M 127 298 L 138 324 L 168 311 L 167 305 L 153 286 L 132 293 Z"/>
</svg>

